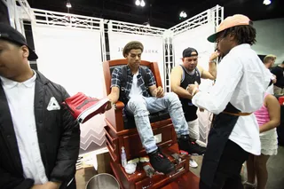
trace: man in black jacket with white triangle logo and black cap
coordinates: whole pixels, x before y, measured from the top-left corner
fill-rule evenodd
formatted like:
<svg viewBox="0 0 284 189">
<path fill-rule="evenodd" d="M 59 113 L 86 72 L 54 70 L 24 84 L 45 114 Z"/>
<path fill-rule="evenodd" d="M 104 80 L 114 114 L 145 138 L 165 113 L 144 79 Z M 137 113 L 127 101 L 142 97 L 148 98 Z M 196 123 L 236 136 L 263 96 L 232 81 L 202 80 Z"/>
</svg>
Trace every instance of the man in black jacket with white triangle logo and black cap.
<svg viewBox="0 0 284 189">
<path fill-rule="evenodd" d="M 17 30 L 0 24 L 0 188 L 75 188 L 80 129 L 67 91 L 29 67 L 37 59 Z"/>
</svg>

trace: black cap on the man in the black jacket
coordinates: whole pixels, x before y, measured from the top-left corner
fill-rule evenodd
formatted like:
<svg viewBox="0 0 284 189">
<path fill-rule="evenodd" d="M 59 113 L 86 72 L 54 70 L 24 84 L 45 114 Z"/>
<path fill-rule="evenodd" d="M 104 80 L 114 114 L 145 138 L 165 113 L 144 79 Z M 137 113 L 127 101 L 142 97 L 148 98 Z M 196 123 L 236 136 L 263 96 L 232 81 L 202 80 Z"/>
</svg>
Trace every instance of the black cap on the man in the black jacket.
<svg viewBox="0 0 284 189">
<path fill-rule="evenodd" d="M 28 60 L 36 60 L 38 57 L 36 52 L 33 51 L 29 46 L 28 43 L 23 35 L 20 34 L 19 31 L 12 28 L 8 24 L 0 23 L 0 39 L 9 41 L 11 43 L 15 43 L 18 45 L 25 45 L 28 47 L 29 55 Z"/>
</svg>

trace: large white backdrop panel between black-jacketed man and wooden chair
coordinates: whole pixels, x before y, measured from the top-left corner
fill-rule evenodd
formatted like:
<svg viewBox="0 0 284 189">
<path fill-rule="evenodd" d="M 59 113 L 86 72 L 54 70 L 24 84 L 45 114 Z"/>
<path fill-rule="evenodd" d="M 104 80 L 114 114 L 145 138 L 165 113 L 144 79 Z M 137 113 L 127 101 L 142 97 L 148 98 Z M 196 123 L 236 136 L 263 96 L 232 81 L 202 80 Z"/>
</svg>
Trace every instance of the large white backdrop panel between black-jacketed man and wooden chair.
<svg viewBox="0 0 284 189">
<path fill-rule="evenodd" d="M 103 97 L 99 31 L 36 25 L 33 26 L 33 35 L 39 57 L 37 67 L 43 75 L 62 85 L 70 96 L 81 91 L 91 97 Z M 81 125 L 83 150 L 91 142 L 102 144 L 105 125 L 103 115 Z"/>
</svg>

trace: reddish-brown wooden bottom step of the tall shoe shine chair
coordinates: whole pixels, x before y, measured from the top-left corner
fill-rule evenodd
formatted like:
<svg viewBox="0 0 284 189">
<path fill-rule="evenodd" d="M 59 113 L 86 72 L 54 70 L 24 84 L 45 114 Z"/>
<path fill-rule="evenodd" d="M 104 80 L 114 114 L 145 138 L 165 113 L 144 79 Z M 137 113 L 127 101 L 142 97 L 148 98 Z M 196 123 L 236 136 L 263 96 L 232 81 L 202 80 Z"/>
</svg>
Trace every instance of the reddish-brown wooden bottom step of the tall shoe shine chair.
<svg viewBox="0 0 284 189">
<path fill-rule="evenodd" d="M 180 161 L 177 162 L 171 154 L 178 153 L 177 144 L 173 146 L 164 147 L 162 153 L 166 154 L 170 161 L 176 164 L 176 171 L 170 175 L 154 175 L 153 177 L 147 177 L 143 167 L 149 163 L 138 163 L 136 172 L 132 175 L 127 174 L 122 168 L 120 163 L 111 161 L 110 165 L 114 171 L 114 176 L 118 179 L 122 189 L 155 189 L 170 184 L 178 177 L 189 171 L 189 156 L 180 156 Z"/>
</svg>

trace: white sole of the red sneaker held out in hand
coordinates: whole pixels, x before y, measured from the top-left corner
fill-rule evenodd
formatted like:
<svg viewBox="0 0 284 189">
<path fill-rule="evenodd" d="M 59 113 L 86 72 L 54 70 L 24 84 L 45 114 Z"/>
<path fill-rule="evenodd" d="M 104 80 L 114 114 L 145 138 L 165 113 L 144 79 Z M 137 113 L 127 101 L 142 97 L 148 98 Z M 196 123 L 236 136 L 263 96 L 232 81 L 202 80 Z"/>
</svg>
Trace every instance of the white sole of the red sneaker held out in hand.
<svg viewBox="0 0 284 189">
<path fill-rule="evenodd" d="M 83 111 L 83 113 L 79 114 L 77 118 L 77 122 L 84 123 L 87 122 L 89 119 L 86 118 L 91 118 L 92 116 L 99 114 L 97 111 L 101 107 L 105 107 L 108 102 L 107 98 L 100 99 L 99 102 L 95 106 L 90 106 L 88 109 Z"/>
</svg>

